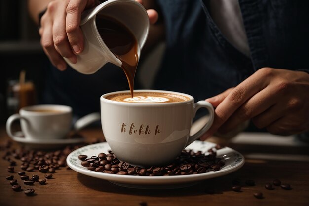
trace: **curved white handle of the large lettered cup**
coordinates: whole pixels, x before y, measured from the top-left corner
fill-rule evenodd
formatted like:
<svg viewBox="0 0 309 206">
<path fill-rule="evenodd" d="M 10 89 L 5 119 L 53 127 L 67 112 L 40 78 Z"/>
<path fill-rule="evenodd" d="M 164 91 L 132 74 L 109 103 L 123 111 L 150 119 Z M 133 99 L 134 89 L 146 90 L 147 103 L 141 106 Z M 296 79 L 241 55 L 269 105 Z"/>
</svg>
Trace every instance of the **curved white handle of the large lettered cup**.
<svg viewBox="0 0 309 206">
<path fill-rule="evenodd" d="M 212 123 L 214 122 L 214 117 L 215 117 L 214 107 L 211 105 L 211 103 L 206 102 L 204 100 L 201 100 L 201 101 L 198 101 L 197 103 L 194 103 L 194 105 L 193 105 L 193 117 L 195 116 L 196 111 L 198 109 L 202 108 L 202 107 L 206 108 L 209 111 L 208 122 L 199 131 L 197 131 L 194 135 L 189 137 L 186 146 L 188 146 L 193 141 L 195 141 L 200 136 L 202 136 L 211 127 Z"/>
</svg>

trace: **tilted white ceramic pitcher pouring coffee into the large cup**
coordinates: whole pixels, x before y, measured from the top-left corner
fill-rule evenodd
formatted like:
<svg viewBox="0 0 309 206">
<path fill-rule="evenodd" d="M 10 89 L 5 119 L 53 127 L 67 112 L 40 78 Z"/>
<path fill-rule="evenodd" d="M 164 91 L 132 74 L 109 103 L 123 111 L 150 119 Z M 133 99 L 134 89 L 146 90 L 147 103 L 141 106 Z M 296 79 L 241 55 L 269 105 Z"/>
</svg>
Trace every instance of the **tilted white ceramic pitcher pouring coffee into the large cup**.
<svg viewBox="0 0 309 206">
<path fill-rule="evenodd" d="M 138 43 L 137 54 L 143 48 L 148 32 L 149 17 L 143 5 L 135 0 L 108 0 L 82 13 L 80 28 L 84 35 L 84 50 L 77 55 L 77 63 L 66 62 L 83 74 L 92 74 L 106 63 L 121 67 L 121 61 L 110 51 L 102 40 L 97 26 L 96 15 L 104 14 L 123 23 L 135 36 Z"/>
</svg>

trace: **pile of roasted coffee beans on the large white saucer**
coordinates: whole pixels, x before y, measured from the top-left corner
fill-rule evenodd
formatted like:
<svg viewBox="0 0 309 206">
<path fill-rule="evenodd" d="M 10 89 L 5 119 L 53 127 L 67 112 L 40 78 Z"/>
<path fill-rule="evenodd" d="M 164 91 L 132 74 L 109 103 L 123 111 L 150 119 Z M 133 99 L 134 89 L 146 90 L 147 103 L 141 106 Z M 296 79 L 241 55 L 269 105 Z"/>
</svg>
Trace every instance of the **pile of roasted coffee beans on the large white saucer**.
<svg viewBox="0 0 309 206">
<path fill-rule="evenodd" d="M 222 147 L 216 146 L 215 148 L 218 150 Z M 127 162 L 121 162 L 112 151 L 107 154 L 100 153 L 98 156 L 90 158 L 87 155 L 79 155 L 78 158 L 83 167 L 96 172 L 134 176 L 174 176 L 219 171 L 225 165 L 225 162 L 216 157 L 216 150 L 213 148 L 208 150 L 208 155 L 201 151 L 183 150 L 171 164 L 148 168 L 134 167 Z"/>
</svg>

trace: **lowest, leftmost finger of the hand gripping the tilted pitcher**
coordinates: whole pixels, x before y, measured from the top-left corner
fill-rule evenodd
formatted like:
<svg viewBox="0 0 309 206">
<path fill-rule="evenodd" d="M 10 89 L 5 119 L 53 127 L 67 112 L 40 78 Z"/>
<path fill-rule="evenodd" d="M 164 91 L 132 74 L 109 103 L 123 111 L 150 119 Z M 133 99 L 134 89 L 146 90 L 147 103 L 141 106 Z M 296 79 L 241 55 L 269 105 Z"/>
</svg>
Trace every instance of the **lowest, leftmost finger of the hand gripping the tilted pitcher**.
<svg viewBox="0 0 309 206">
<path fill-rule="evenodd" d="M 50 62 L 59 70 L 65 70 L 67 68 L 67 64 L 55 49 L 51 24 L 45 25 L 44 28 L 42 28 L 41 33 L 41 45 Z"/>
</svg>

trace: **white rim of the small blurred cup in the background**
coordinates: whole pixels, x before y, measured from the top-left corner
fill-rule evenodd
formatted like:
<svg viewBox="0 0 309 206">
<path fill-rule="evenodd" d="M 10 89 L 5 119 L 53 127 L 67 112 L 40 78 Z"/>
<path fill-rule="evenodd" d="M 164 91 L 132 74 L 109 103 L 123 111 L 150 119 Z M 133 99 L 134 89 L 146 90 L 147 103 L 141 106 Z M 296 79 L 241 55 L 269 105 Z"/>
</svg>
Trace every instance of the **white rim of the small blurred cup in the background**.
<svg viewBox="0 0 309 206">
<path fill-rule="evenodd" d="M 51 112 L 37 112 L 33 111 L 34 109 L 50 109 L 50 110 L 57 110 L 62 112 L 51 113 Z M 32 106 L 26 106 L 19 110 L 21 115 L 31 115 L 31 116 L 56 116 L 56 115 L 63 115 L 63 114 L 70 114 L 72 113 L 72 107 L 66 105 L 59 105 L 59 104 L 37 104 Z"/>
</svg>

